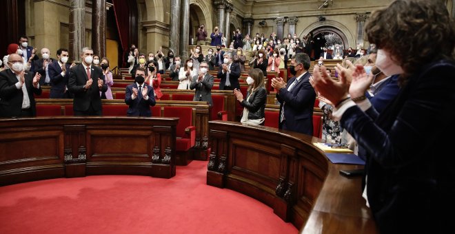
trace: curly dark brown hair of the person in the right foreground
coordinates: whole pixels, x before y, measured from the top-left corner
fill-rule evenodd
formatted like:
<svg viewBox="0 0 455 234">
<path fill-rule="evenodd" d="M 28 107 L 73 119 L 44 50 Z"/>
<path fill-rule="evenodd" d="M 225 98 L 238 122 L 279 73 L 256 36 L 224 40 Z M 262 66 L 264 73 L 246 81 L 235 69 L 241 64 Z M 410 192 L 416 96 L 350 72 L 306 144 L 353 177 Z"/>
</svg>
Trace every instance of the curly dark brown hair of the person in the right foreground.
<svg viewBox="0 0 455 234">
<path fill-rule="evenodd" d="M 365 32 L 370 43 L 390 52 L 401 65 L 404 85 L 426 64 L 454 58 L 454 25 L 441 1 L 397 0 L 373 12 Z"/>
</svg>

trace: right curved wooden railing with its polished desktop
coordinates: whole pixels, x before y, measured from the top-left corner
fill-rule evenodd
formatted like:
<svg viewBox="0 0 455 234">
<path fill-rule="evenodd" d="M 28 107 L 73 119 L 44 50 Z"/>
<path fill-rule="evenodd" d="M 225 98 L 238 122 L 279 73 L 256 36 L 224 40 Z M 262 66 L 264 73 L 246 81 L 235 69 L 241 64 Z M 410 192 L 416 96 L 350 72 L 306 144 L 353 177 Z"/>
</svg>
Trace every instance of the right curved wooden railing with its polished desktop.
<svg viewBox="0 0 455 234">
<path fill-rule="evenodd" d="M 312 138 L 270 127 L 210 121 L 207 184 L 249 195 L 302 233 L 377 233 L 361 178 L 345 178 Z"/>
</svg>

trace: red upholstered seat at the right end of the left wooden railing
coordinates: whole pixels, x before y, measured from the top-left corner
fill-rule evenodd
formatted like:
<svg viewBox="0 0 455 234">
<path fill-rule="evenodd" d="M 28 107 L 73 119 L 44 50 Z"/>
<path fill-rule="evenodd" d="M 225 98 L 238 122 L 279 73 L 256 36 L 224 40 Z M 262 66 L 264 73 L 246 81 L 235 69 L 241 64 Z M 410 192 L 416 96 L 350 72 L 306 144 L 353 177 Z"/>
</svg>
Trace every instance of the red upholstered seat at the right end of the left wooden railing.
<svg viewBox="0 0 455 234">
<path fill-rule="evenodd" d="M 196 128 L 192 126 L 191 107 L 163 107 L 164 117 L 179 117 L 176 126 L 176 151 L 188 151 L 196 144 Z M 189 145 L 188 142 L 189 141 Z"/>
</svg>

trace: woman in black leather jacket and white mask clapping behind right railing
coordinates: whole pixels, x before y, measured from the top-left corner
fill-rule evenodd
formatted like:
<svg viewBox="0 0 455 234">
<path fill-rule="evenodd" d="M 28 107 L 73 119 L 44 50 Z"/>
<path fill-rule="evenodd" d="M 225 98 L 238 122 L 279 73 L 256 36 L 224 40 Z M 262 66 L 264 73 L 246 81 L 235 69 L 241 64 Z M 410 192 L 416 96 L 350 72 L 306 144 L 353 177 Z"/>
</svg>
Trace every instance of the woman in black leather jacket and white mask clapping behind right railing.
<svg viewBox="0 0 455 234">
<path fill-rule="evenodd" d="M 241 123 L 249 125 L 264 125 L 264 110 L 267 101 L 267 91 L 264 87 L 264 74 L 259 68 L 254 68 L 248 72 L 246 80 L 248 87 L 247 98 L 243 99 L 243 94 L 239 89 L 234 89 L 234 95 L 243 106 Z"/>
</svg>

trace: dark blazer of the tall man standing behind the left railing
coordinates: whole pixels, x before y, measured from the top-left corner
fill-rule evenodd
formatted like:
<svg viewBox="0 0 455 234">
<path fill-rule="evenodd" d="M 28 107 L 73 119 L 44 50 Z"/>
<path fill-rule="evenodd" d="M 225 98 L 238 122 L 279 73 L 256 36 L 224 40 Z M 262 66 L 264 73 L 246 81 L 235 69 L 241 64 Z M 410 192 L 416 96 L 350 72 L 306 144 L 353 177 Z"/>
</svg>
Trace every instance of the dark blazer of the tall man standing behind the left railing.
<svg viewBox="0 0 455 234">
<path fill-rule="evenodd" d="M 70 77 L 68 78 L 68 90 L 74 94 L 73 109 L 76 111 L 87 111 L 90 105 L 95 110 L 103 110 L 101 105 L 101 97 L 99 92 L 106 92 L 108 85 L 105 83 L 103 70 L 99 67 L 92 65 L 90 78 L 93 83 L 89 89 L 84 89 L 85 83 L 88 81 L 87 72 L 85 72 L 83 65 L 78 64 L 70 69 Z M 98 87 L 98 78 L 103 80 L 101 89 Z"/>
</svg>

